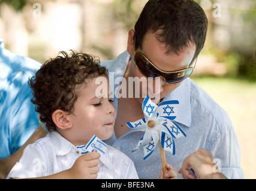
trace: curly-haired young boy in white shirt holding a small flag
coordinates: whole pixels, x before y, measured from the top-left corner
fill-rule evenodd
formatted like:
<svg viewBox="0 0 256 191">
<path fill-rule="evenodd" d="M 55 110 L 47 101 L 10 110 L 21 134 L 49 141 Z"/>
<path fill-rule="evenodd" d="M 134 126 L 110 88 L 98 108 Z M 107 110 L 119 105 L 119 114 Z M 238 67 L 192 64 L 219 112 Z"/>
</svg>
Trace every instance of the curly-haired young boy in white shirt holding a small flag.
<svg viewBox="0 0 256 191">
<path fill-rule="evenodd" d="M 110 92 L 96 95 L 98 77 L 109 86 L 106 68 L 88 54 L 61 54 L 29 81 L 50 133 L 26 147 L 7 178 L 138 178 L 131 159 L 101 142 L 112 136 L 116 119 Z"/>
</svg>

